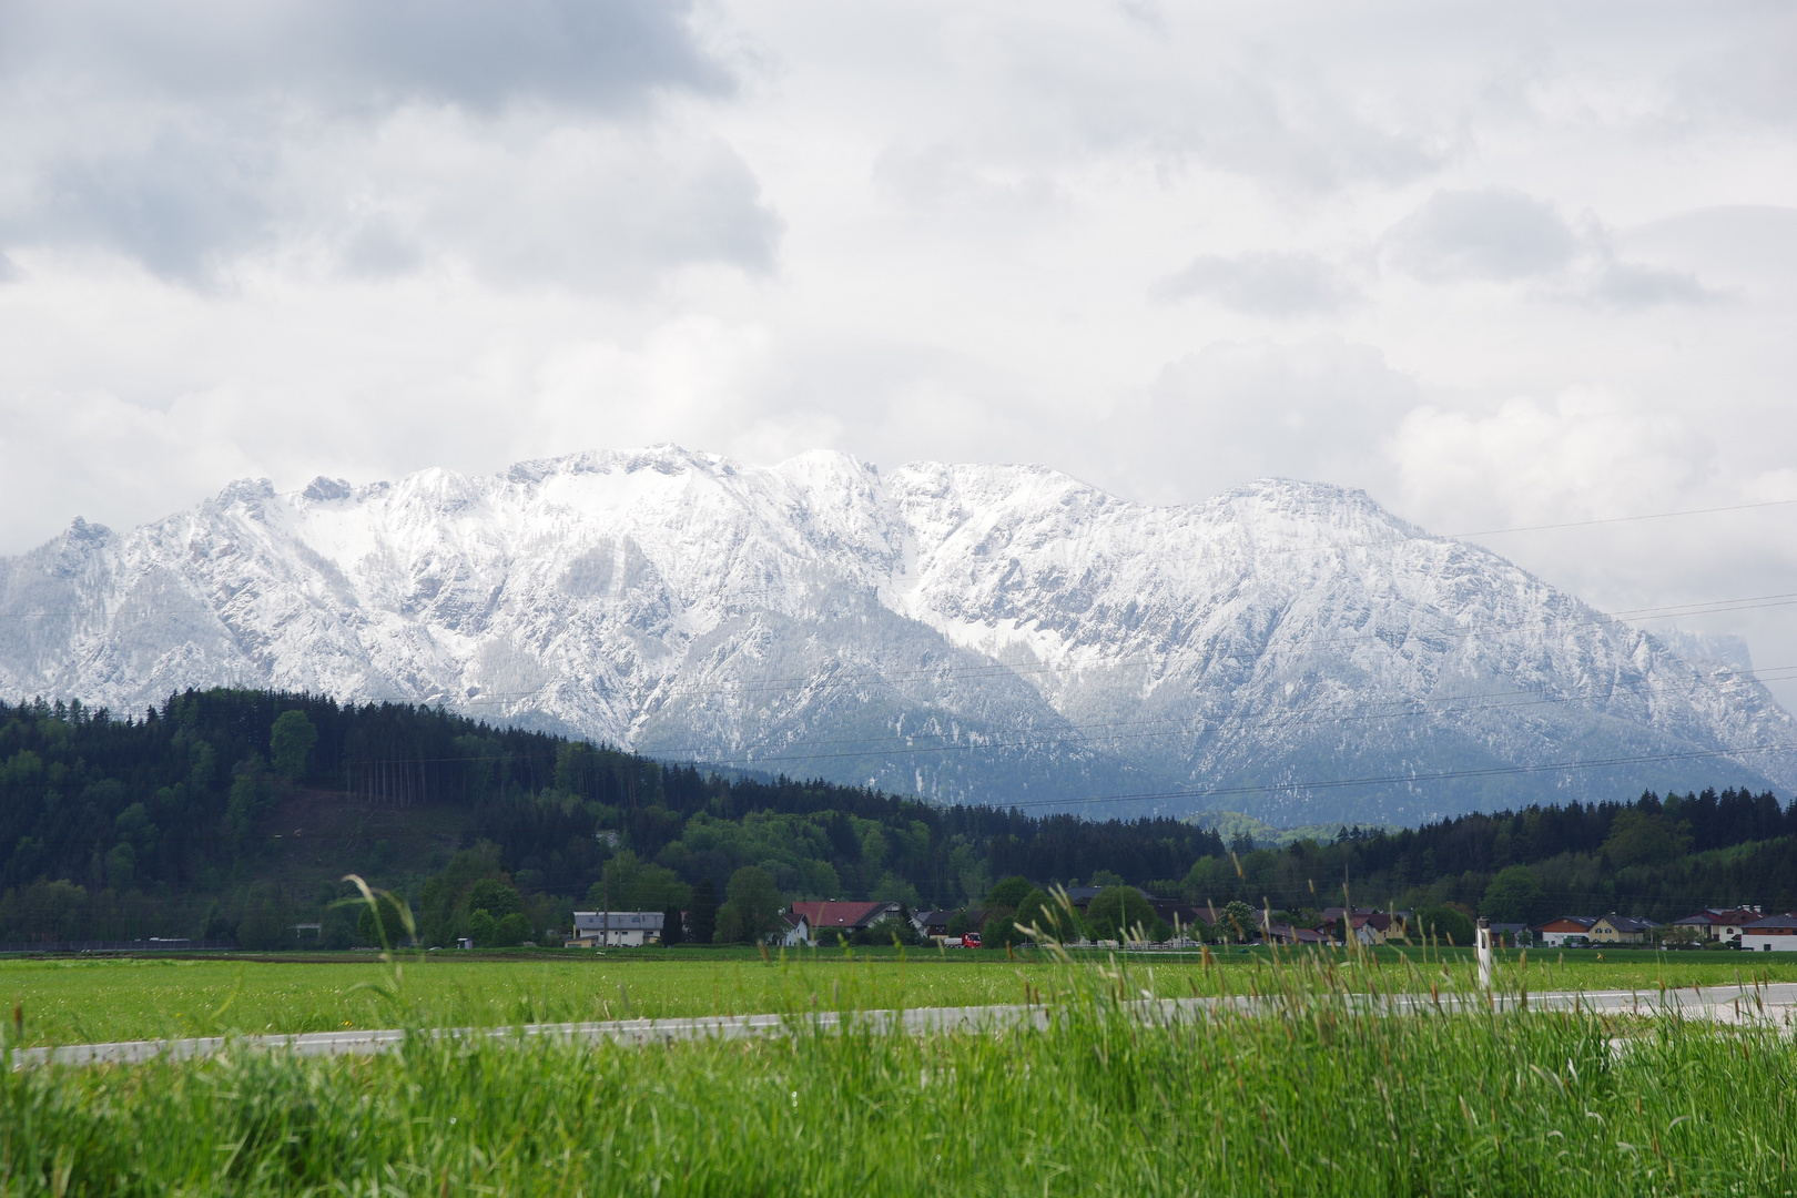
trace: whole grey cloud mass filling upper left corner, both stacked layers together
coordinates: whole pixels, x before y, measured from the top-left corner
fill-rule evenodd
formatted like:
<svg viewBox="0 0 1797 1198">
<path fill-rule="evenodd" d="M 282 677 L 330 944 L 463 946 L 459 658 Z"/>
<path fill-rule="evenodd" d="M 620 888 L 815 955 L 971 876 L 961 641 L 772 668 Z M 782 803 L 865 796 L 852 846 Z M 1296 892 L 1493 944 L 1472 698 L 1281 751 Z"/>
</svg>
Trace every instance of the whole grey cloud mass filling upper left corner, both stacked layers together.
<svg viewBox="0 0 1797 1198">
<path fill-rule="evenodd" d="M 0 137 L 32 133 L 0 250 L 101 248 L 192 286 L 316 244 L 350 275 L 453 257 L 600 291 L 767 269 L 757 180 L 656 104 L 731 86 L 688 9 L 0 2 Z"/>
</svg>

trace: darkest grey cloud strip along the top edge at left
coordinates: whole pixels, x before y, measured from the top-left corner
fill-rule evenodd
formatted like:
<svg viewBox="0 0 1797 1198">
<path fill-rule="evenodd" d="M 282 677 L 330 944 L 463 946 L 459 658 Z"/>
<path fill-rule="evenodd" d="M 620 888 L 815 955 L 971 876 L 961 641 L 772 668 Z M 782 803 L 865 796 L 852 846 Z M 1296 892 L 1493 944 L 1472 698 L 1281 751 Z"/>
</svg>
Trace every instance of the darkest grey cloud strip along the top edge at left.
<svg viewBox="0 0 1797 1198">
<path fill-rule="evenodd" d="M 730 88 L 688 13 L 661 0 L 13 0 L 0 5 L 0 65 L 187 99 L 616 110 L 658 88 Z"/>
</svg>

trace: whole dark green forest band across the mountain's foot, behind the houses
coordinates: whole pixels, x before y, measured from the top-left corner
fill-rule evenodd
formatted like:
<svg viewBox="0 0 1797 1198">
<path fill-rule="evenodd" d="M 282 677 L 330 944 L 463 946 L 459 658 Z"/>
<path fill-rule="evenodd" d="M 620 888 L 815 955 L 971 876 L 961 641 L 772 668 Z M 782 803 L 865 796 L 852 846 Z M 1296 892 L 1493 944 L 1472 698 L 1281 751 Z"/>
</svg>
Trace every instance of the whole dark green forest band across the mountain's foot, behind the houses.
<svg viewBox="0 0 1797 1198">
<path fill-rule="evenodd" d="M 1518 920 L 1797 907 L 1797 806 L 1772 794 L 1650 790 L 1270 850 L 1177 819 L 724 778 L 433 708 L 244 690 L 126 717 L 0 702 L 0 943 L 347 947 L 379 936 L 372 912 L 358 927 L 336 905 L 352 871 L 404 896 L 429 943 L 541 938 L 600 902 L 692 907 L 728 936 L 749 889 L 757 909 L 978 909 L 1003 878 L 1292 911 L 1346 887 L 1362 905 Z"/>
</svg>

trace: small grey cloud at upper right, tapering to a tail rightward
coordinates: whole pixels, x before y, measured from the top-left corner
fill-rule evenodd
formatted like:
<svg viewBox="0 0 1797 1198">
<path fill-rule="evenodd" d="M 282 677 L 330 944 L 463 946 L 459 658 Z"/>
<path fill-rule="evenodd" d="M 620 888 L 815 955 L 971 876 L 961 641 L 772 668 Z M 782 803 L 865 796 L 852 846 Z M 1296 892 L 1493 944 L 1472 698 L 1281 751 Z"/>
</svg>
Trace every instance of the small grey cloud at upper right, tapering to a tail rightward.
<svg viewBox="0 0 1797 1198">
<path fill-rule="evenodd" d="M 1533 282 L 1544 295 L 1616 307 L 1718 298 L 1695 277 L 1624 262 L 1596 216 L 1565 221 L 1520 190 L 1436 190 L 1385 232 L 1384 264 L 1423 282 Z"/>
</svg>

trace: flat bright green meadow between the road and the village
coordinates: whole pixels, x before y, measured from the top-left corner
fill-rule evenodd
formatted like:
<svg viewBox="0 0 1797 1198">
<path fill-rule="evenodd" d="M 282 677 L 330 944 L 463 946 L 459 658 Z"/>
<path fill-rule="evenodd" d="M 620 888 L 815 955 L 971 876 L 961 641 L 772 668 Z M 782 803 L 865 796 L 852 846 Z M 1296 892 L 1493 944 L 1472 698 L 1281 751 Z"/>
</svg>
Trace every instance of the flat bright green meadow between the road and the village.
<svg viewBox="0 0 1797 1198">
<path fill-rule="evenodd" d="M 1299 959 L 1305 954 L 1299 954 Z M 1499 972 L 1542 990 L 1641 990 L 1797 981 L 1797 961 L 1734 952 L 1499 954 Z M 1242 993 L 1265 986 L 1269 950 L 1141 954 L 1141 986 L 1161 997 Z M 1279 954 L 1288 961 L 1292 954 Z M 1342 952 L 1324 959 L 1346 961 Z M 1093 961 L 1107 961 L 1093 954 Z M 1416 977 L 1459 982 L 1470 954 L 1384 948 L 1368 957 L 1382 986 Z M 1042 991 L 1053 965 L 1035 950 L 1005 952 L 841 948 L 757 950 L 543 950 L 537 954 L 399 954 L 406 1006 L 386 995 L 386 968 L 372 954 L 340 959 L 4 959 L 0 1004 L 22 1017 L 23 1044 L 81 1044 L 397 1027 L 509 1026 L 677 1015 L 753 1015 L 789 1009 L 870 1009 L 1022 1002 Z"/>
</svg>

